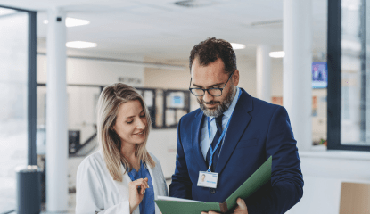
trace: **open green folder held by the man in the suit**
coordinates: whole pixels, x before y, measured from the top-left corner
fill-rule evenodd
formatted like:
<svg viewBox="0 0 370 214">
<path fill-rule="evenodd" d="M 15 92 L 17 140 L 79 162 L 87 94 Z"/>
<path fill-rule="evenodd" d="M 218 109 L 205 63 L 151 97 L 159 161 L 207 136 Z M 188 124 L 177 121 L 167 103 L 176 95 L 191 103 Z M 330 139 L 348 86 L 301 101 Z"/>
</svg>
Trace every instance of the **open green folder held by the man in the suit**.
<svg viewBox="0 0 370 214">
<path fill-rule="evenodd" d="M 243 185 L 239 186 L 225 202 L 179 202 L 155 200 L 162 214 L 201 214 L 201 211 L 217 211 L 226 213 L 236 206 L 236 199 L 246 199 L 255 193 L 262 185 L 265 185 L 271 179 L 272 156 L 249 177 Z"/>
</svg>

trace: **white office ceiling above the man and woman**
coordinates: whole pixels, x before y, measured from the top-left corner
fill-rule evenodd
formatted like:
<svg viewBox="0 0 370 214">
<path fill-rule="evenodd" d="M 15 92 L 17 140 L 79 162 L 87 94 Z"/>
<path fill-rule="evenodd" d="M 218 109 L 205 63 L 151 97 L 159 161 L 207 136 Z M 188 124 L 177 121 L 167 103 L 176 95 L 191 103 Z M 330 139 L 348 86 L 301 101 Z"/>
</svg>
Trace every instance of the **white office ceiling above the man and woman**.
<svg viewBox="0 0 370 214">
<path fill-rule="evenodd" d="M 236 50 L 238 60 L 255 60 L 256 46 L 283 46 L 283 0 L 194 0 L 185 7 L 176 0 L 0 0 L 0 5 L 37 11 L 38 50 L 45 50 L 49 8 L 60 7 L 68 17 L 90 21 L 67 29 L 67 41 L 97 43 L 76 52 L 149 62 L 184 64 L 193 45 L 207 37 L 246 45 Z M 313 0 L 313 52 L 325 53 L 325 0 Z M 264 24 L 272 21 L 273 24 Z M 73 50 L 69 51 L 70 53 Z M 119 57 L 120 56 L 120 57 Z"/>
</svg>

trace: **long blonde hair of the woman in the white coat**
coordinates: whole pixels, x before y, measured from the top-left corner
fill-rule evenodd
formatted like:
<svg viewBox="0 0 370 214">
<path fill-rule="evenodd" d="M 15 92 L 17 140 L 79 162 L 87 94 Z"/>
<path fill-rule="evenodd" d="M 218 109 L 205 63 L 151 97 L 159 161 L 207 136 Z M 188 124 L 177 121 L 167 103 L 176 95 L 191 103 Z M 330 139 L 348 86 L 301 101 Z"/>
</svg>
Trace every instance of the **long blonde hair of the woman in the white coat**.
<svg viewBox="0 0 370 214">
<path fill-rule="evenodd" d="M 97 137 L 98 142 L 103 150 L 103 157 L 107 164 L 107 168 L 113 177 L 113 180 L 122 181 L 123 174 L 126 171 L 121 171 L 121 164 L 125 169 L 132 169 L 132 164 L 120 152 L 122 142 L 119 135 L 111 128 L 116 124 L 119 105 L 129 101 L 139 101 L 143 108 L 146 117 L 144 143 L 136 144 L 135 155 L 145 165 L 155 167 L 155 162 L 152 160 L 149 152 L 146 151 L 146 142 L 148 140 L 149 131 L 152 127 L 152 119 L 149 115 L 148 108 L 144 103 L 143 97 L 132 86 L 127 86 L 123 83 L 115 83 L 106 86 L 102 94 L 99 96 L 97 104 Z"/>
</svg>

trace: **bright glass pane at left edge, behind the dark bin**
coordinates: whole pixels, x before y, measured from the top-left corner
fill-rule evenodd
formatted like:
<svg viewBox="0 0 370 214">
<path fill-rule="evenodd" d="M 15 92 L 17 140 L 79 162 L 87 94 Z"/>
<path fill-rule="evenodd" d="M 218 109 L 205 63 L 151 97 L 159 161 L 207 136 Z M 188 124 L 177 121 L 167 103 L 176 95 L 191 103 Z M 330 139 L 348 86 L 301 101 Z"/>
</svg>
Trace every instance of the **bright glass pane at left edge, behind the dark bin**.
<svg viewBox="0 0 370 214">
<path fill-rule="evenodd" d="M 15 168 L 28 163 L 29 14 L 0 7 L 0 213 L 15 209 Z"/>
</svg>

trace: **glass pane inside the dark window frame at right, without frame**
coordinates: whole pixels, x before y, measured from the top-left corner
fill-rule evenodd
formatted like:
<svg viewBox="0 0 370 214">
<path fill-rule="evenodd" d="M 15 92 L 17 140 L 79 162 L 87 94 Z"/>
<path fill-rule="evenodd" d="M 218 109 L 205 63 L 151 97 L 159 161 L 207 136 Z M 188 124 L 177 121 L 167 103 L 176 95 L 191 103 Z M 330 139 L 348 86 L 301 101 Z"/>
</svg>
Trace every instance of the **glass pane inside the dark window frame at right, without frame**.
<svg viewBox="0 0 370 214">
<path fill-rule="evenodd" d="M 341 144 L 370 145 L 368 0 L 341 1 Z"/>
</svg>

